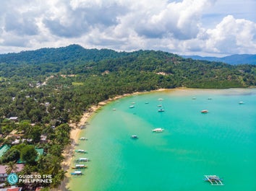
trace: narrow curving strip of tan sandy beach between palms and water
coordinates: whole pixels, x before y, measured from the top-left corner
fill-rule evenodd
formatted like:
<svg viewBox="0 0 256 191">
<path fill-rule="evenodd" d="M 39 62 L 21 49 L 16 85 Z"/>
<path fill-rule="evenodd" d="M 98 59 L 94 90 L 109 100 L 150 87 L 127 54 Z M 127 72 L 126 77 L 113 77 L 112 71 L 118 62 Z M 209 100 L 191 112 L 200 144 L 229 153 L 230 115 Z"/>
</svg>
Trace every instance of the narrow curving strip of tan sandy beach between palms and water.
<svg viewBox="0 0 256 191">
<path fill-rule="evenodd" d="M 172 89 L 156 89 L 156 90 L 152 90 L 150 92 L 163 92 L 163 91 L 169 91 L 169 90 L 172 90 Z M 148 92 L 134 92 L 134 93 L 131 93 L 131 94 L 122 94 L 122 95 L 118 95 L 118 96 L 113 97 L 113 98 L 109 98 L 109 99 L 107 99 L 103 102 L 99 102 L 98 105 L 91 106 L 88 109 L 87 112 L 83 113 L 79 123 L 69 123 L 69 126 L 72 128 L 72 130 L 70 131 L 70 141 L 71 141 L 71 143 L 70 143 L 69 146 L 67 146 L 67 148 L 64 149 L 64 153 L 63 153 L 64 161 L 61 164 L 62 169 L 64 169 L 64 171 L 68 172 L 68 170 L 70 168 L 70 165 L 72 164 L 72 158 L 74 156 L 74 148 L 77 145 L 77 142 L 78 142 L 79 137 L 80 137 L 80 132 L 81 132 L 80 126 L 85 125 L 85 123 L 88 122 L 90 117 L 93 114 L 95 114 L 95 112 L 97 110 L 101 109 L 101 107 L 103 107 L 104 105 L 107 105 L 108 103 L 113 102 L 117 99 L 121 99 L 123 97 L 128 97 L 128 96 L 132 96 L 132 95 L 136 95 L 136 94 L 145 94 L 145 93 L 148 93 Z M 66 177 L 61 182 L 61 185 L 58 188 L 52 189 L 52 190 L 53 191 L 69 190 L 68 185 L 69 185 L 69 178 L 70 177 L 71 176 L 67 173 Z"/>
</svg>

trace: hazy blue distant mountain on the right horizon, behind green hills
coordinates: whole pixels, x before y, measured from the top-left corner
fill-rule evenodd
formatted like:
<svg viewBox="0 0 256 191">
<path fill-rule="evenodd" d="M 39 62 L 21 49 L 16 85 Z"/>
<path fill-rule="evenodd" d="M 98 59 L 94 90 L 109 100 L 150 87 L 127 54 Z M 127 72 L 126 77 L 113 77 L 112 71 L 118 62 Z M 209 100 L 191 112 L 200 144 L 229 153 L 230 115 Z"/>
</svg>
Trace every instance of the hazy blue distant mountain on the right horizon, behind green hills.
<svg viewBox="0 0 256 191">
<path fill-rule="evenodd" d="M 256 54 L 234 54 L 225 56 L 222 58 L 218 57 L 202 57 L 199 55 L 182 55 L 183 58 L 192 58 L 194 60 L 200 61 L 216 61 L 216 62 L 223 62 L 229 63 L 232 65 L 236 64 L 255 64 L 256 65 Z"/>
</svg>

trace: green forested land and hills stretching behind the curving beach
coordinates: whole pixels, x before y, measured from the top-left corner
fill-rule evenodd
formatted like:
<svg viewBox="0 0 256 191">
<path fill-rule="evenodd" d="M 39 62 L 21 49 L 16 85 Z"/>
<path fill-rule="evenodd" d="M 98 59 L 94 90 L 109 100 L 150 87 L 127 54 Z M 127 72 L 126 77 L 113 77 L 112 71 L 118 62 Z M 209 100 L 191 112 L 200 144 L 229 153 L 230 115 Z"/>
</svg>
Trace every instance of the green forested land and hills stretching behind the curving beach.
<svg viewBox="0 0 256 191">
<path fill-rule="evenodd" d="M 43 186 L 57 187 L 64 177 L 61 154 L 70 143 L 68 123 L 77 123 L 91 105 L 159 88 L 255 85 L 256 66 L 194 61 L 163 51 L 119 53 L 69 45 L 0 55 L 0 143 L 12 145 L 11 132 L 30 140 L 12 146 L 0 164 L 17 161 L 27 145 L 44 148 L 45 155 L 27 163 L 24 173 L 52 174 L 54 184 Z M 46 142 L 40 141 L 42 134 Z"/>
</svg>

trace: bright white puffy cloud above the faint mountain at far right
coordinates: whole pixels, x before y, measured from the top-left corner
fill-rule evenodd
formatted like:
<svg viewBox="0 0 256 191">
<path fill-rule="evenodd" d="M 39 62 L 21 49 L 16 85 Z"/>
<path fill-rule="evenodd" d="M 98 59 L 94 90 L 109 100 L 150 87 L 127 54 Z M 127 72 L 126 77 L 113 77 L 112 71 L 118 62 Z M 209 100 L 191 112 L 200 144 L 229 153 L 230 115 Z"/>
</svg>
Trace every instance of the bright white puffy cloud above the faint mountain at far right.
<svg viewBox="0 0 256 191">
<path fill-rule="evenodd" d="M 213 30 L 207 30 L 206 48 L 219 53 L 255 53 L 256 24 L 229 15 Z"/>
</svg>

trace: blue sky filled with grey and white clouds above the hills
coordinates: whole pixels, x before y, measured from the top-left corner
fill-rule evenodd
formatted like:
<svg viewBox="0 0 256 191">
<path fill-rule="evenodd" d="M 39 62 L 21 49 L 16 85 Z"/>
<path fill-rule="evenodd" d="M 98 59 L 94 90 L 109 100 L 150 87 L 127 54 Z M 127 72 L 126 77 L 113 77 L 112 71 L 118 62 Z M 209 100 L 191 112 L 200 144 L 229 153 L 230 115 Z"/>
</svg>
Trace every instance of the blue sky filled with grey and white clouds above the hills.
<svg viewBox="0 0 256 191">
<path fill-rule="evenodd" d="M 0 53 L 70 44 L 256 54 L 256 0 L 1 0 Z"/>
</svg>

